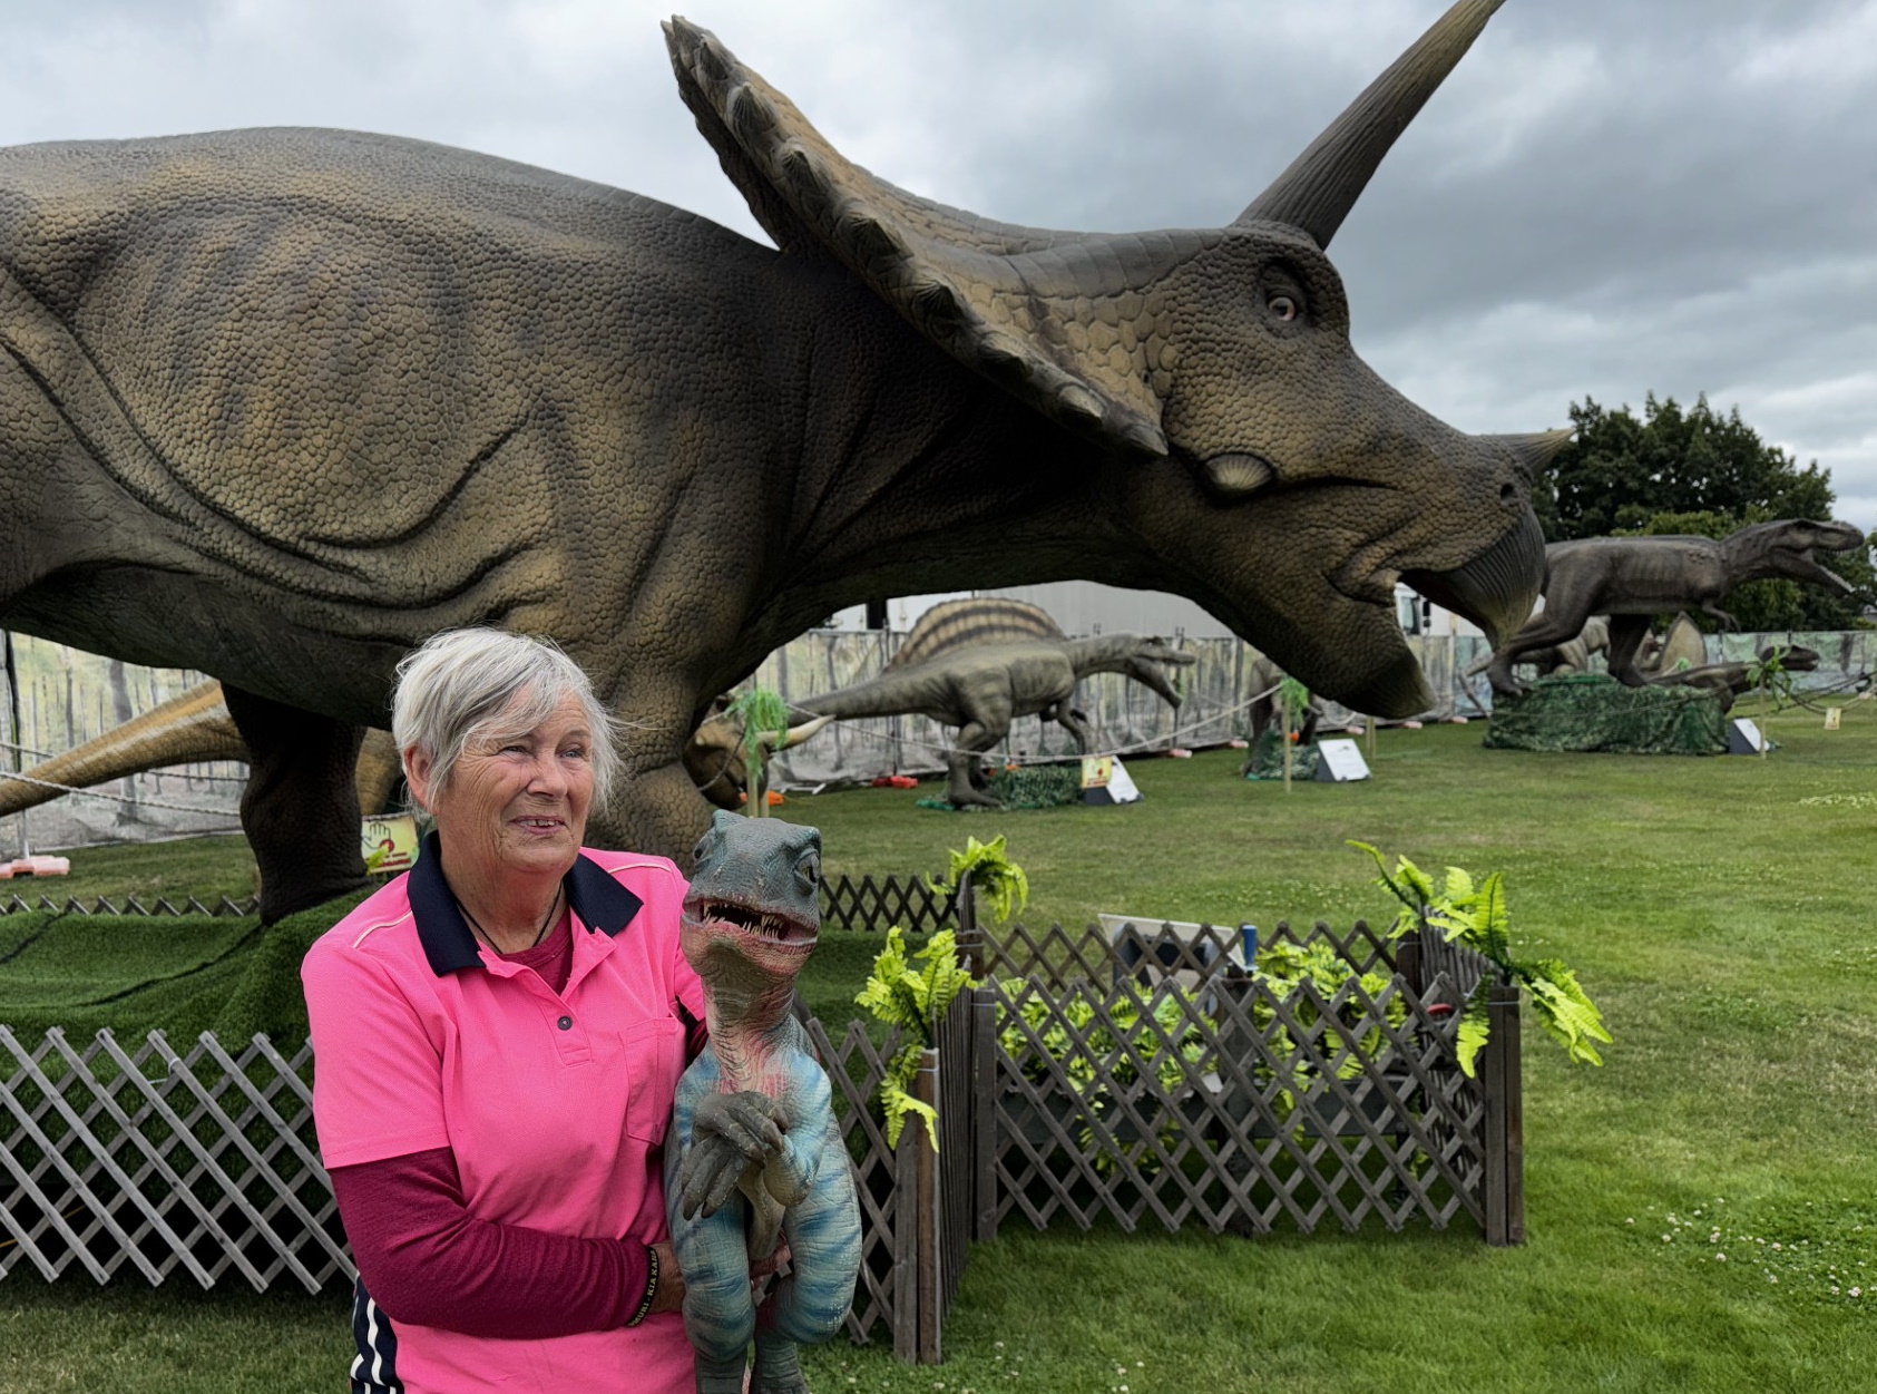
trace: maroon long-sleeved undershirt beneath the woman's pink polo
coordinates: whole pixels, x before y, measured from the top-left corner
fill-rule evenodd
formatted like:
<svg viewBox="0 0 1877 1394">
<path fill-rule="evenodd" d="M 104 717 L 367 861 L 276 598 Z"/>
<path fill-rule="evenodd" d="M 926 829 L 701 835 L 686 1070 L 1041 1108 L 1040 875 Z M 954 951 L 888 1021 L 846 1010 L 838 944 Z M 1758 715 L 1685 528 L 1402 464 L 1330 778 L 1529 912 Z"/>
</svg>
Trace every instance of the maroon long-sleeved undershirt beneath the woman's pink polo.
<svg viewBox="0 0 1877 1394">
<path fill-rule="evenodd" d="M 548 943 L 505 956 L 561 992 L 572 936 L 563 924 Z M 691 1037 L 696 1054 L 702 1022 Z M 646 1298 L 644 1244 L 477 1219 L 449 1148 L 334 1167 L 332 1195 L 366 1291 L 392 1321 L 541 1340 L 623 1326 Z"/>
</svg>

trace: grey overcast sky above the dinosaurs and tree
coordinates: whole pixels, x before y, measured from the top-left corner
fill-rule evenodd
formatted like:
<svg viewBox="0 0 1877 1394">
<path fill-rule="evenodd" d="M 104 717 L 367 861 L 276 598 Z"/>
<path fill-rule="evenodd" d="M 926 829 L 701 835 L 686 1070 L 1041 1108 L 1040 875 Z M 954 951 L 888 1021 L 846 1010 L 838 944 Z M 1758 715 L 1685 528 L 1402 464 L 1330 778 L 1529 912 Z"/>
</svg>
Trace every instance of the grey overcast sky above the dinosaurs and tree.
<svg viewBox="0 0 1877 1394">
<path fill-rule="evenodd" d="M 687 0 L 850 158 L 982 214 L 1229 222 L 1442 0 Z M 642 0 L 0 0 L 0 145 L 345 126 L 760 237 Z M 1462 430 L 1740 406 L 1877 526 L 1877 0 L 1507 0 L 1331 246 Z"/>
</svg>

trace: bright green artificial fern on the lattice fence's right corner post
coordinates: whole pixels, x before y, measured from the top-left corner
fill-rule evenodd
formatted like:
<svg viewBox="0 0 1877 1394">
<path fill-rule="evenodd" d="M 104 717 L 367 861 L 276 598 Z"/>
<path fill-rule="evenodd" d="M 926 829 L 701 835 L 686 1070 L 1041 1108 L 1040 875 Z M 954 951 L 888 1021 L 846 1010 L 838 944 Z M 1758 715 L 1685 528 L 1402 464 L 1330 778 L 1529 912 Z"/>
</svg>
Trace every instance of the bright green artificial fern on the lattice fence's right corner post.
<svg viewBox="0 0 1877 1394">
<path fill-rule="evenodd" d="M 1562 958 L 1513 956 L 1511 915 L 1505 909 L 1505 875 L 1502 872 L 1492 872 L 1475 885 L 1470 874 L 1449 866 L 1443 881 L 1436 885 L 1434 877 L 1406 857 L 1396 857 L 1395 872 L 1389 874 L 1381 851 L 1366 842 L 1351 842 L 1350 845 L 1376 859 L 1376 866 L 1381 870 L 1380 885 L 1402 902 L 1402 911 L 1395 917 L 1389 937 L 1400 937 L 1427 926 L 1440 932 L 1447 943 L 1462 943 L 1488 958 L 1498 969 L 1500 983 L 1518 984 L 1532 996 L 1539 1022 L 1573 1061 L 1603 1063 L 1595 1043 L 1609 1043 L 1610 1033 L 1603 1024 L 1603 1013 L 1579 986 L 1577 973 Z M 1460 1069 L 1466 1075 L 1473 1073 L 1473 1061 L 1487 1045 L 1492 1020 L 1487 1011 L 1490 994 L 1492 975 L 1488 973 L 1473 986 L 1460 1013 L 1458 1054 Z"/>
</svg>

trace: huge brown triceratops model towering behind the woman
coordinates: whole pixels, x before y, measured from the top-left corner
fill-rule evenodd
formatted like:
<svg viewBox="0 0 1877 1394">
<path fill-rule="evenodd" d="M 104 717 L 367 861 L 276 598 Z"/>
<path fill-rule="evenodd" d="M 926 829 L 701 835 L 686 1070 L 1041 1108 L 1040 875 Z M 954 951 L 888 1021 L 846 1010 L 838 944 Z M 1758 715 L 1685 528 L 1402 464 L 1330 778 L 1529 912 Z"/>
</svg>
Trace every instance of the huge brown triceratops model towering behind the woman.
<svg viewBox="0 0 1877 1394">
<path fill-rule="evenodd" d="M 268 919 L 362 879 L 359 733 L 450 626 L 593 674 L 627 727 L 591 836 L 679 857 L 710 701 L 880 596 L 1171 590 L 1327 697 L 1425 710 L 1395 582 L 1517 629 L 1565 438 L 1396 395 L 1325 248 L 1498 2 L 1199 231 L 897 190 L 683 21 L 679 94 L 773 248 L 381 135 L 0 150 L 0 626 L 223 682 Z"/>
</svg>

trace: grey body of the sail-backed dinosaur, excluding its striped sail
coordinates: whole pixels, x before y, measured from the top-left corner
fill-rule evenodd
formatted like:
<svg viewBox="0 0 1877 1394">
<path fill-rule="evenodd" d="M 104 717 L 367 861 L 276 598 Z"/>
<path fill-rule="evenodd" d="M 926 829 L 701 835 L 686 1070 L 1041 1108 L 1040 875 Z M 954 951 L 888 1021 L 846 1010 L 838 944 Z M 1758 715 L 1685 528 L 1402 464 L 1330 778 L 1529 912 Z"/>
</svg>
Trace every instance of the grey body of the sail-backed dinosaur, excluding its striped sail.
<svg viewBox="0 0 1877 1394">
<path fill-rule="evenodd" d="M 927 663 L 890 667 L 869 682 L 809 697 L 800 706 L 815 716 L 848 720 L 916 712 L 957 727 L 946 759 L 954 804 L 999 800 L 984 785 L 982 755 L 1010 735 L 1019 716 L 1057 721 L 1089 750 L 1089 727 L 1068 705 L 1076 684 L 1091 673 L 1122 673 L 1179 706 L 1181 697 L 1164 667 L 1198 661 L 1162 639 L 1096 635 L 1092 639 L 1030 639 L 1010 644 L 965 644 Z"/>
</svg>

